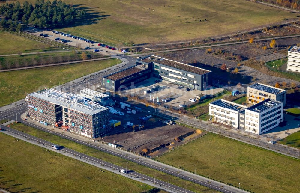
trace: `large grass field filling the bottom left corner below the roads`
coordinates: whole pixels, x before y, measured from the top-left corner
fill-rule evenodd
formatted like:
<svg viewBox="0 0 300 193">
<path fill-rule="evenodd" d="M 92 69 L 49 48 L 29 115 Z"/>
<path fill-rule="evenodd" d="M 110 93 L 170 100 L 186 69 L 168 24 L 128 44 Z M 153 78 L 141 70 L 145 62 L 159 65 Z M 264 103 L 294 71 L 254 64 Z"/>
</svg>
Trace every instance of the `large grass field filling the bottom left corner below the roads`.
<svg viewBox="0 0 300 193">
<path fill-rule="evenodd" d="M 12 192 L 141 192 L 152 188 L 3 133 L 0 141 L 0 187 Z"/>
</svg>

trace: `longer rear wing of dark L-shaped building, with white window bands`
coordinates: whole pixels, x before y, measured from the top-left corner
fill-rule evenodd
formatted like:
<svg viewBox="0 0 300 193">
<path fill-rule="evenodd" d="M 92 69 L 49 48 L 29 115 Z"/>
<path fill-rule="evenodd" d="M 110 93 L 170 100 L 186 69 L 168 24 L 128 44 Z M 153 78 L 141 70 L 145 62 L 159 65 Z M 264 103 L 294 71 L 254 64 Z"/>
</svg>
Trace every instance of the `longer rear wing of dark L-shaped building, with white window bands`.
<svg viewBox="0 0 300 193">
<path fill-rule="evenodd" d="M 211 71 L 189 64 L 155 55 L 140 58 L 137 64 L 152 64 L 153 76 L 200 91 L 212 84 Z"/>
</svg>

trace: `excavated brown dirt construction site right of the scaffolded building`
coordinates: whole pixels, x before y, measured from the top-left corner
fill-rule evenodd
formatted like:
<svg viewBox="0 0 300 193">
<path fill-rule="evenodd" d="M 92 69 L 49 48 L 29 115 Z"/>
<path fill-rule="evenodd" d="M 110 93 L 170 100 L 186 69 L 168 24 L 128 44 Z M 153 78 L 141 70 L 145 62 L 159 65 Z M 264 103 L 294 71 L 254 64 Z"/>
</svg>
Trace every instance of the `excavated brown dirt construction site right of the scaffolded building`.
<svg viewBox="0 0 300 193">
<path fill-rule="evenodd" d="M 109 135 L 98 139 L 146 156 L 161 155 L 190 138 L 202 136 L 200 130 L 153 117 L 146 112 L 130 108 L 110 111 L 113 112 L 111 118 L 121 123 Z"/>
</svg>

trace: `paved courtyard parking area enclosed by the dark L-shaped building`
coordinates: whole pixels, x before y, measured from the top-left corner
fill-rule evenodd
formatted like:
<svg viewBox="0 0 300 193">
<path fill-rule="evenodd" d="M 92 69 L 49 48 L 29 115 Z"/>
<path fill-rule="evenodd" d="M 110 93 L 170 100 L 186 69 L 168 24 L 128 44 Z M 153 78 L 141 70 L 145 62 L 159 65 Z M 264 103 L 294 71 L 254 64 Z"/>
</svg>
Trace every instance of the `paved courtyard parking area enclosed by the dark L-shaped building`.
<svg viewBox="0 0 300 193">
<path fill-rule="evenodd" d="M 218 92 L 223 91 L 222 88 L 213 88 L 210 90 L 199 91 L 196 89 L 190 89 L 189 91 L 186 90 L 185 87 L 178 88 L 178 85 L 171 84 L 168 81 L 160 80 L 161 82 L 155 83 L 155 80 L 159 80 L 157 78 L 149 78 L 145 81 L 141 82 L 140 84 L 132 86 L 127 91 L 122 92 L 124 96 L 139 96 L 140 99 L 145 99 L 150 103 L 154 103 L 159 99 L 159 104 L 161 106 L 167 106 L 167 108 L 180 108 L 179 105 L 191 105 L 193 102 L 190 99 L 194 99 L 196 95 L 204 94 L 204 95 L 212 95 Z M 156 85 L 159 87 L 152 90 L 151 93 L 145 93 L 148 88 L 153 88 Z M 150 100 L 150 95 L 151 100 Z M 163 99 L 170 98 L 168 102 L 162 101 Z"/>
</svg>

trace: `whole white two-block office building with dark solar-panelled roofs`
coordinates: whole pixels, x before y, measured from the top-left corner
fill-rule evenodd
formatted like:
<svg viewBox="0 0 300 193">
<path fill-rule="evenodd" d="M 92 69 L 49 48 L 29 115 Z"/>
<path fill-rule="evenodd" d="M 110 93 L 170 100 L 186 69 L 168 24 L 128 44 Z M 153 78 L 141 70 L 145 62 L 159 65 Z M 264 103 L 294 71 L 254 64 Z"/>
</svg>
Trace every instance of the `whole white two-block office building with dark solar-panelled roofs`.
<svg viewBox="0 0 300 193">
<path fill-rule="evenodd" d="M 278 126 L 283 120 L 283 103 L 265 99 L 246 107 L 218 99 L 209 104 L 209 115 L 217 122 L 259 135 Z"/>
</svg>

